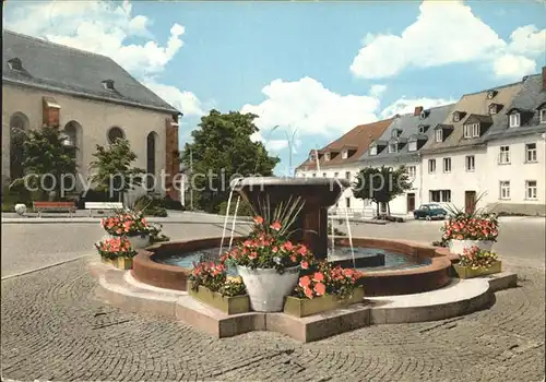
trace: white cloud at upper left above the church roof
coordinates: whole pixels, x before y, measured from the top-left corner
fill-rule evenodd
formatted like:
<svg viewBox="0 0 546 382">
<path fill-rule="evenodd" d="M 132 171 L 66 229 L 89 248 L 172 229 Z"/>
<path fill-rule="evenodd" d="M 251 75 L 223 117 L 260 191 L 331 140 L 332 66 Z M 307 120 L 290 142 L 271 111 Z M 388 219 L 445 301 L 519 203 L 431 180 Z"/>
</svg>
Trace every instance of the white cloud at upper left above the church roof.
<svg viewBox="0 0 546 382">
<path fill-rule="evenodd" d="M 5 28 L 110 57 L 141 81 L 163 72 L 183 46 L 182 25 L 171 25 L 162 45 L 149 29 L 152 21 L 145 15 L 132 15 L 129 1 L 9 2 L 4 8 Z M 129 38 L 142 43 L 127 44 Z M 202 114 L 191 92 L 150 80 L 146 85 L 185 115 Z"/>
</svg>

